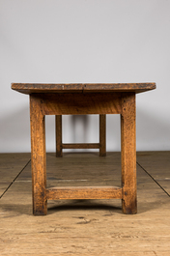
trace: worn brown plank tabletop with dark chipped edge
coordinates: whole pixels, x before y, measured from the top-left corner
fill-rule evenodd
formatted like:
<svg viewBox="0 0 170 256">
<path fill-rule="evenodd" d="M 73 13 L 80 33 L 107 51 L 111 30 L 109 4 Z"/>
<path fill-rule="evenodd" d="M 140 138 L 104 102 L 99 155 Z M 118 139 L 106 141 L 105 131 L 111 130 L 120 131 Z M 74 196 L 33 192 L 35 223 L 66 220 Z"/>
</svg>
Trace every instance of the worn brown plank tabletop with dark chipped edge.
<svg viewBox="0 0 170 256">
<path fill-rule="evenodd" d="M 156 83 L 12 83 L 12 89 L 22 94 L 34 93 L 85 93 L 85 92 L 135 92 L 156 89 Z"/>
</svg>

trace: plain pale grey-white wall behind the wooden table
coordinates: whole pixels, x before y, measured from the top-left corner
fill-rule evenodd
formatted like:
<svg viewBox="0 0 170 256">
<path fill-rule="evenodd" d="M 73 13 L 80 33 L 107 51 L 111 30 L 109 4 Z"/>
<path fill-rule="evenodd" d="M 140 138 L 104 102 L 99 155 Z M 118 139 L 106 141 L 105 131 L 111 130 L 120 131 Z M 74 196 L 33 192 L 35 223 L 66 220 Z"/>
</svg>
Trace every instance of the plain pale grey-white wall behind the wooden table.
<svg viewBox="0 0 170 256">
<path fill-rule="evenodd" d="M 170 150 L 170 1 L 0 0 L 0 152 L 30 152 L 29 99 L 12 82 L 156 82 L 137 95 L 137 150 Z M 64 141 L 97 142 L 98 121 L 65 116 Z M 54 151 L 52 116 L 46 133 Z M 119 150 L 107 116 L 107 151 Z"/>
</svg>

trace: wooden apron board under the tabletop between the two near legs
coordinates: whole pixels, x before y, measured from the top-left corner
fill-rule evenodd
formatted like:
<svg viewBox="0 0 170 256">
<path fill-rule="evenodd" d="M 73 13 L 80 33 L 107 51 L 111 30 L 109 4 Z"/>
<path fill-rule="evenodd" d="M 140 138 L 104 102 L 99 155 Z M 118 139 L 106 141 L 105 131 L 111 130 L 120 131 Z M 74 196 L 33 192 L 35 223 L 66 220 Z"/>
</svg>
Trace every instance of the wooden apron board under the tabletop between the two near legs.
<svg viewBox="0 0 170 256">
<path fill-rule="evenodd" d="M 120 114 L 121 94 L 39 94 L 44 115 Z"/>
</svg>

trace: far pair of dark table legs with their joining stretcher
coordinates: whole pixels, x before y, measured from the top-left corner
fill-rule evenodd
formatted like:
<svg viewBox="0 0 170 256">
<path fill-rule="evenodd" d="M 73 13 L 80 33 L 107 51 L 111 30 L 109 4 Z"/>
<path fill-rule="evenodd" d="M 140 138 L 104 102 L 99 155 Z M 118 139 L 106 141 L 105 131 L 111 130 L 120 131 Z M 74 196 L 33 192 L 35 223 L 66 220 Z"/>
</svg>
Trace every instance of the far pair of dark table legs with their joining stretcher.
<svg viewBox="0 0 170 256">
<path fill-rule="evenodd" d="M 63 149 L 99 149 L 99 156 L 106 156 L 106 116 L 99 115 L 99 143 L 62 143 L 62 115 L 55 116 L 56 156 L 63 156 Z"/>
</svg>

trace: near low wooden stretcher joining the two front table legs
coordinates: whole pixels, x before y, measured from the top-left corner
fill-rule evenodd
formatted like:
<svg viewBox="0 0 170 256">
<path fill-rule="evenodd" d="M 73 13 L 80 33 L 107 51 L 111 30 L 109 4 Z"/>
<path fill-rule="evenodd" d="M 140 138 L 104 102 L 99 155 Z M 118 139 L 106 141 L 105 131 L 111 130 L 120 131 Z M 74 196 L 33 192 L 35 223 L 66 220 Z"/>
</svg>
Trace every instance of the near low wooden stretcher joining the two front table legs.
<svg viewBox="0 0 170 256">
<path fill-rule="evenodd" d="M 53 199 L 121 199 L 122 188 L 116 186 L 63 186 L 46 189 L 46 198 Z"/>
</svg>

